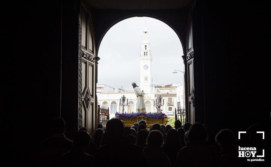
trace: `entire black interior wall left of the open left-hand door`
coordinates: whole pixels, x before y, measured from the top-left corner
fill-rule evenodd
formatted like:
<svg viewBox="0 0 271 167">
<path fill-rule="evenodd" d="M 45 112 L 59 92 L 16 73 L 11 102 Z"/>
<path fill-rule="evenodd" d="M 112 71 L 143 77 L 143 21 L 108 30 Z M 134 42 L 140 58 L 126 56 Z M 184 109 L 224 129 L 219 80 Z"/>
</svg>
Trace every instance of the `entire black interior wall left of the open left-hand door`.
<svg viewBox="0 0 271 167">
<path fill-rule="evenodd" d="M 2 132 L 8 137 L 1 148 L 9 163 L 31 162 L 37 144 L 51 135 L 53 118 L 66 120 L 66 137 L 77 131 L 79 1 L 62 2 L 6 4 L 12 7 L 3 27 L 9 56 Z"/>
</svg>

